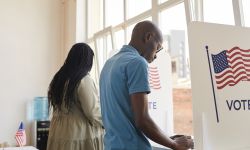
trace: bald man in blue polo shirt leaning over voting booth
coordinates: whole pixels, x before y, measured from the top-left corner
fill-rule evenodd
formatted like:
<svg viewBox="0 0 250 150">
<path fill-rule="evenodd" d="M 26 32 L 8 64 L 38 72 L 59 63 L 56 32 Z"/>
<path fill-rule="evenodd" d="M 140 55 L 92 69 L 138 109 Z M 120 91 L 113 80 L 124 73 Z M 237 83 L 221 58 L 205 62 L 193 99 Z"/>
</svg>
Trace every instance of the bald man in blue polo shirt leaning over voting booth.
<svg viewBox="0 0 250 150">
<path fill-rule="evenodd" d="M 162 49 L 162 33 L 150 21 L 133 29 L 129 45 L 105 63 L 100 76 L 105 150 L 151 150 L 146 137 L 174 150 L 193 146 L 188 136 L 167 137 L 148 113 L 148 63 Z"/>
</svg>

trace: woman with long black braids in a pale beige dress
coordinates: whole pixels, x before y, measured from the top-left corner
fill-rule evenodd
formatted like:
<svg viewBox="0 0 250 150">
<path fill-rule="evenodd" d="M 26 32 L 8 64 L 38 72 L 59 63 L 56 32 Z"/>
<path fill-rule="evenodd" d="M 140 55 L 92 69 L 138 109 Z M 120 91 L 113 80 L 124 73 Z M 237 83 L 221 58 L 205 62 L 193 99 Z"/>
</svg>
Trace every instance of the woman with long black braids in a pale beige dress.
<svg viewBox="0 0 250 150">
<path fill-rule="evenodd" d="M 47 150 L 103 150 L 96 86 L 89 75 L 94 53 L 85 43 L 71 48 L 48 91 L 53 108 Z"/>
</svg>

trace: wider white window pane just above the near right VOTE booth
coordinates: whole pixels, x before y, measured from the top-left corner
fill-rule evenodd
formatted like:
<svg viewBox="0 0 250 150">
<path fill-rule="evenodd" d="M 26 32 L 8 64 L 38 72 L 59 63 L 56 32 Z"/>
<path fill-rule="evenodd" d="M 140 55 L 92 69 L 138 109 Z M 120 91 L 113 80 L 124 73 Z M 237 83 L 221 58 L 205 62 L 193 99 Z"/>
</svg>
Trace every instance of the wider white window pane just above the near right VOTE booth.
<svg viewBox="0 0 250 150">
<path fill-rule="evenodd" d="M 204 21 L 234 25 L 231 0 L 203 0 Z"/>
</svg>

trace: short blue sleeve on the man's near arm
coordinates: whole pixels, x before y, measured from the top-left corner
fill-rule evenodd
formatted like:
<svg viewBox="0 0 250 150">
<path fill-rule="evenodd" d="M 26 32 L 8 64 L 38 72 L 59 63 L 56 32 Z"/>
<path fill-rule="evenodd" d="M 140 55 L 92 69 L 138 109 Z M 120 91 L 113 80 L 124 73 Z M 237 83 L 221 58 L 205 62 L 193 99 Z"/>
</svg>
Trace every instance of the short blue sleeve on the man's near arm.
<svg viewBox="0 0 250 150">
<path fill-rule="evenodd" d="M 139 92 L 150 93 L 146 60 L 137 57 L 130 61 L 126 68 L 126 76 L 130 95 Z"/>
</svg>

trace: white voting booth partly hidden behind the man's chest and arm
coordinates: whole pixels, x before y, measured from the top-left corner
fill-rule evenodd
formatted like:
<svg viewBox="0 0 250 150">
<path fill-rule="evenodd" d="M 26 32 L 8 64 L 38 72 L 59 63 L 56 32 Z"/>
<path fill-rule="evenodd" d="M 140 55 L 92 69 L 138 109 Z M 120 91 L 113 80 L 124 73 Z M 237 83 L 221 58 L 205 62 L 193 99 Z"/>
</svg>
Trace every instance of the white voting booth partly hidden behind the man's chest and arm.
<svg viewBox="0 0 250 150">
<path fill-rule="evenodd" d="M 151 118 L 167 136 L 173 135 L 173 96 L 171 58 L 161 51 L 149 64 L 148 109 Z M 163 147 L 150 141 L 153 146 Z"/>
</svg>

